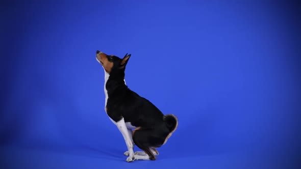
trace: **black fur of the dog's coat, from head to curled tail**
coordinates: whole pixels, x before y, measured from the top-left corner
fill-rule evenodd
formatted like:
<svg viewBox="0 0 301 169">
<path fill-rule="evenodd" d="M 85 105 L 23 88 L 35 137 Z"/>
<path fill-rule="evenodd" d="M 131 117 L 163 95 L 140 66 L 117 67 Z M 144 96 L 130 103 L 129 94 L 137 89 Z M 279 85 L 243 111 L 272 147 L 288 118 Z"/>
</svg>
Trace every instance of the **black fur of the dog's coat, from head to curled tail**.
<svg viewBox="0 0 301 169">
<path fill-rule="evenodd" d="M 123 79 L 129 59 L 121 65 L 122 59 L 109 55 L 107 58 L 109 62 L 113 62 L 106 83 L 109 96 L 107 114 L 115 122 L 124 118 L 125 122 L 136 126 L 133 132 L 135 145 L 144 150 L 151 160 L 155 160 L 156 157 L 149 148 L 161 147 L 168 134 L 177 127 L 178 119 L 173 115 L 164 116 L 152 102 L 128 88 Z"/>
</svg>

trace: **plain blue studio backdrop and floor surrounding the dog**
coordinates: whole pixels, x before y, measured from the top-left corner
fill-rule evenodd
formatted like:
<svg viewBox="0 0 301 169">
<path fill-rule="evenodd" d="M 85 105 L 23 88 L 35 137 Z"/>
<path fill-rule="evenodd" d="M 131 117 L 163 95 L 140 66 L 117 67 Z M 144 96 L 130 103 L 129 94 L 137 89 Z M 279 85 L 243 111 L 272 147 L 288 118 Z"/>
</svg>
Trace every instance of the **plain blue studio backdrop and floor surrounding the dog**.
<svg viewBox="0 0 301 169">
<path fill-rule="evenodd" d="M 1 3 L 2 168 L 300 164 L 299 3 Z M 96 50 L 131 53 L 129 88 L 178 116 L 156 161 L 126 162 Z"/>
</svg>

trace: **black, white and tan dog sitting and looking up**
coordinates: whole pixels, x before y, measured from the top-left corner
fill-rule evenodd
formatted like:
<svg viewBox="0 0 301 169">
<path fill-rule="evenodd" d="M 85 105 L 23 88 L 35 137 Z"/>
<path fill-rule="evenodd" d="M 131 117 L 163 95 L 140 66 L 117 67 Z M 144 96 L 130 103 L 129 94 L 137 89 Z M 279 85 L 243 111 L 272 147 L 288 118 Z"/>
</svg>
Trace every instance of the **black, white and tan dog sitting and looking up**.
<svg viewBox="0 0 301 169">
<path fill-rule="evenodd" d="M 156 148 L 163 146 L 177 129 L 178 118 L 164 115 L 152 102 L 128 88 L 124 72 L 130 57 L 128 53 L 121 59 L 96 51 L 96 60 L 105 71 L 105 111 L 126 141 L 127 162 L 156 160 Z M 143 151 L 134 153 L 134 145 Z"/>
</svg>

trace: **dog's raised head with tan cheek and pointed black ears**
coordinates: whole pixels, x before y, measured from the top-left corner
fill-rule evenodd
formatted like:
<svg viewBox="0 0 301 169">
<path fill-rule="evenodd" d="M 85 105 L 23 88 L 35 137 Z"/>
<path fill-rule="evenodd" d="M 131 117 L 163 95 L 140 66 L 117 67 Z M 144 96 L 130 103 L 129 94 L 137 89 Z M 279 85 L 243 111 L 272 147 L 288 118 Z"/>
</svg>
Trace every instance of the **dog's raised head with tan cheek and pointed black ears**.
<svg viewBox="0 0 301 169">
<path fill-rule="evenodd" d="M 115 55 L 107 55 L 101 51 L 96 51 L 96 60 L 104 67 L 107 73 L 119 72 L 126 69 L 127 63 L 131 57 L 128 53 L 123 57 L 123 59 L 116 57 Z"/>
</svg>

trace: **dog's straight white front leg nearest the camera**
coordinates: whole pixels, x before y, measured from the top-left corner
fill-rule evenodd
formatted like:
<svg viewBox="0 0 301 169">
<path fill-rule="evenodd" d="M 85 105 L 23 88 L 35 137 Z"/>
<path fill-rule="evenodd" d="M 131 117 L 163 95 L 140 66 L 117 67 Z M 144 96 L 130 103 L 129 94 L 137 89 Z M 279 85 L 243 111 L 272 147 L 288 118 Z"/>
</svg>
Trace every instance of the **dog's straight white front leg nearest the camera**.
<svg viewBox="0 0 301 169">
<path fill-rule="evenodd" d="M 124 119 L 122 118 L 120 121 L 118 121 L 116 123 L 119 131 L 121 132 L 124 140 L 126 141 L 127 147 L 128 147 L 128 151 L 129 151 L 129 157 L 127 158 L 128 162 L 131 162 L 133 160 L 135 160 L 134 157 L 134 145 L 132 142 L 132 138 L 130 137 L 130 134 L 128 132 L 128 128 L 126 126 L 126 123 L 124 122 Z"/>
</svg>

